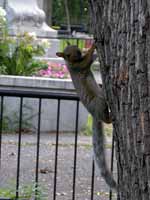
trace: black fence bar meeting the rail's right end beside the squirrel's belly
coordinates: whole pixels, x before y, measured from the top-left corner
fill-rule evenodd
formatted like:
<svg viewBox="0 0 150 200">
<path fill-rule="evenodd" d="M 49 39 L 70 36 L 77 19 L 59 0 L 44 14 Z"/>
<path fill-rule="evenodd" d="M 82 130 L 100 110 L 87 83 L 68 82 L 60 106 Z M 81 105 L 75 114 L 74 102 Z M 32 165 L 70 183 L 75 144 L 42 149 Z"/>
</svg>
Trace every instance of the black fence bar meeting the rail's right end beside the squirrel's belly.
<svg viewBox="0 0 150 200">
<path fill-rule="evenodd" d="M 76 107 L 76 124 L 75 124 L 75 145 L 74 145 L 74 167 L 73 167 L 73 190 L 72 200 L 75 200 L 76 191 L 76 166 L 77 166 L 77 142 L 78 142 L 78 121 L 79 121 L 79 101 L 77 101 Z"/>
</svg>

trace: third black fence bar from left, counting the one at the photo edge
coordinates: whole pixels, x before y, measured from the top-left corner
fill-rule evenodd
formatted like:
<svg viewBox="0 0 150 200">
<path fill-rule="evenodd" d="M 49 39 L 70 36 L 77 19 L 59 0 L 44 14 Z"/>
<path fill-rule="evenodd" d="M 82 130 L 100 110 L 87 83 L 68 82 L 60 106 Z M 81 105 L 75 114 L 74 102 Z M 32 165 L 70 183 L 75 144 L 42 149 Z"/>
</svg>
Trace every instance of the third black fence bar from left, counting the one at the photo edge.
<svg viewBox="0 0 150 200">
<path fill-rule="evenodd" d="M 38 181 L 39 181 L 39 154 L 40 154 L 40 133 L 41 133 L 41 105 L 42 99 L 39 99 L 38 110 L 38 129 L 37 129 L 37 149 L 36 149 L 36 170 L 35 170 L 35 200 L 37 199 Z"/>
</svg>

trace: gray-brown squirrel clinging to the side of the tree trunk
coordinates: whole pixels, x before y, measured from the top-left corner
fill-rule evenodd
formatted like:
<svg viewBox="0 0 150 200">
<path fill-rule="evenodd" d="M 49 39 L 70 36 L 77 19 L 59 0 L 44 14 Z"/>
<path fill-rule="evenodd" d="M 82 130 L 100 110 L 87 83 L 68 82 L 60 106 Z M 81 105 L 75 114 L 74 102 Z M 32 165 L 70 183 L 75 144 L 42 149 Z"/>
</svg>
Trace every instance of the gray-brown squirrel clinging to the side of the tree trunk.
<svg viewBox="0 0 150 200">
<path fill-rule="evenodd" d="M 93 117 L 93 151 L 94 159 L 100 168 L 101 175 L 110 188 L 117 189 L 117 184 L 110 173 L 104 150 L 103 124 L 111 123 L 111 116 L 103 90 L 96 83 L 91 72 L 95 44 L 82 56 L 75 45 L 68 45 L 63 52 L 56 55 L 64 58 L 79 98 Z"/>
</svg>

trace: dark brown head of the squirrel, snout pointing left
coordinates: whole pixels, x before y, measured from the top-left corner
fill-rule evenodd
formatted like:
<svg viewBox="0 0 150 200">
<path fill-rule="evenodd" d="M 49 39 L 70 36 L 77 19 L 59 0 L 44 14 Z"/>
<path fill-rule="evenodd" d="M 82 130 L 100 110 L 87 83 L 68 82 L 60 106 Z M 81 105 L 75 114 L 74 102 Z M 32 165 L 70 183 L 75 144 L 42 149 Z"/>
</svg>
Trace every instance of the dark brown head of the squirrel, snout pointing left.
<svg viewBox="0 0 150 200">
<path fill-rule="evenodd" d="M 62 57 L 70 64 L 74 64 L 76 62 L 81 61 L 82 54 L 80 49 L 75 45 L 67 46 L 63 52 L 57 52 L 57 56 Z"/>
</svg>

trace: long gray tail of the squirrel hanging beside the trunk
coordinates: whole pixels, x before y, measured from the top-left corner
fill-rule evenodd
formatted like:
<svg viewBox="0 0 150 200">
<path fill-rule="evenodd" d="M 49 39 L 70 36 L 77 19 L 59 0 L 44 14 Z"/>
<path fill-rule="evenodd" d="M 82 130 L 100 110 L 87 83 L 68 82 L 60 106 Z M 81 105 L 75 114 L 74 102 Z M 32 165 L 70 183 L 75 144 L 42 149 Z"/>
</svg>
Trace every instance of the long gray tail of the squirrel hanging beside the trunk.
<svg viewBox="0 0 150 200">
<path fill-rule="evenodd" d="M 102 177 L 110 188 L 117 190 L 116 181 L 109 171 L 105 159 L 103 124 L 95 119 L 93 119 L 93 151 L 95 162 L 100 168 Z"/>
</svg>

